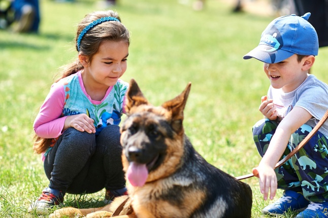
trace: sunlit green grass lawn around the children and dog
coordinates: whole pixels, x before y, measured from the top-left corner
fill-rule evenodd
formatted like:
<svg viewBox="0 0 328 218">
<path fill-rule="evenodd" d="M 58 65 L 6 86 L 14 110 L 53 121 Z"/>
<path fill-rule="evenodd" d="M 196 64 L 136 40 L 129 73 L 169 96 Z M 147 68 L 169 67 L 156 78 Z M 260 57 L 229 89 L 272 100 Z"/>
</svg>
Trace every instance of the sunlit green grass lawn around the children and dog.
<svg viewBox="0 0 328 218">
<path fill-rule="evenodd" d="M 269 81 L 261 62 L 242 57 L 258 44 L 273 17 L 233 14 L 219 0 L 196 12 L 191 3 L 119 1 L 115 10 L 132 33 L 123 80 L 136 79 L 154 105 L 175 97 L 191 82 L 184 126 L 194 147 L 229 174 L 250 173 L 260 161 L 251 128 L 262 117 L 257 108 Z M 30 201 L 48 186 L 41 157 L 32 151 L 32 123 L 58 67 L 76 58 L 77 23 L 99 9 L 92 0 L 40 4 L 39 34 L 0 30 L 0 217 L 43 217 L 27 213 Z M 312 70 L 324 82 L 327 58 L 328 50 L 321 48 Z M 258 179 L 244 181 L 253 190 L 252 216 L 265 217 L 260 210 L 270 202 L 263 200 Z M 65 203 L 97 206 L 103 195 L 67 195 Z M 278 191 L 274 200 L 280 195 Z"/>
</svg>

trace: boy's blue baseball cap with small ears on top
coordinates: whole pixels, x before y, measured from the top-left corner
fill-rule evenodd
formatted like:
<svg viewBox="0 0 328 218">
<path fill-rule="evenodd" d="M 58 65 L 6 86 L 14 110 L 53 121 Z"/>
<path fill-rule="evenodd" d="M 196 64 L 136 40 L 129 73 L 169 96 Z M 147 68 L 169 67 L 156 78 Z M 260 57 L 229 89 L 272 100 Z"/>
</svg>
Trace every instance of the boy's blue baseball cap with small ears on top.
<svg viewBox="0 0 328 218">
<path fill-rule="evenodd" d="M 299 17 L 292 14 L 274 19 L 262 32 L 258 46 L 243 58 L 278 63 L 293 54 L 318 55 L 318 35 L 307 21 L 310 15 L 306 13 Z"/>
</svg>

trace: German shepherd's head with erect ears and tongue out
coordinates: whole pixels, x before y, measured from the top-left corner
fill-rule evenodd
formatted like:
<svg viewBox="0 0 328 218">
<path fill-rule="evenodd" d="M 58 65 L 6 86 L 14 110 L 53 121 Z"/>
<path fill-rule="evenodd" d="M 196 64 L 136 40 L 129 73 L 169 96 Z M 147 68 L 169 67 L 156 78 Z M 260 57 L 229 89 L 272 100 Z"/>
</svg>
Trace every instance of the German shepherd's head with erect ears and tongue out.
<svg viewBox="0 0 328 218">
<path fill-rule="evenodd" d="M 122 162 L 133 186 L 172 174 L 184 150 L 183 110 L 191 83 L 172 100 L 151 105 L 135 80 L 126 93 L 126 120 L 121 127 Z"/>
</svg>

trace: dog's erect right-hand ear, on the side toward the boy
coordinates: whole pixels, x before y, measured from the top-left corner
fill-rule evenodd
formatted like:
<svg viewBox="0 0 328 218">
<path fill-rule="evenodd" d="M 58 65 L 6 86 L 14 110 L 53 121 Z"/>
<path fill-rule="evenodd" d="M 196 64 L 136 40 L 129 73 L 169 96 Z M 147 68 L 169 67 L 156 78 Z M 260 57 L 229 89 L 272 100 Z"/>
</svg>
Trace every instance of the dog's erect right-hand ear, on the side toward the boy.
<svg viewBox="0 0 328 218">
<path fill-rule="evenodd" d="M 190 87 L 191 83 L 189 82 L 180 95 L 162 104 L 162 107 L 172 113 L 172 128 L 176 132 L 180 131 L 182 128 L 183 110 L 187 102 Z"/>
</svg>

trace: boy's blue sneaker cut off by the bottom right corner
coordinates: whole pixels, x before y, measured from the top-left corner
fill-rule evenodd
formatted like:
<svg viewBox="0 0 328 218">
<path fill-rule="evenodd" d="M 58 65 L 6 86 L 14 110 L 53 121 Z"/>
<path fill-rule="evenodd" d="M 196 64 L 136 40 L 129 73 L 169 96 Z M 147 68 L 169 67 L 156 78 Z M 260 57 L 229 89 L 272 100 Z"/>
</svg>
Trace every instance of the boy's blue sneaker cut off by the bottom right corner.
<svg viewBox="0 0 328 218">
<path fill-rule="evenodd" d="M 328 202 L 314 203 L 310 202 L 309 206 L 296 218 L 316 218 L 328 217 Z"/>
</svg>

